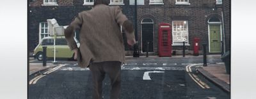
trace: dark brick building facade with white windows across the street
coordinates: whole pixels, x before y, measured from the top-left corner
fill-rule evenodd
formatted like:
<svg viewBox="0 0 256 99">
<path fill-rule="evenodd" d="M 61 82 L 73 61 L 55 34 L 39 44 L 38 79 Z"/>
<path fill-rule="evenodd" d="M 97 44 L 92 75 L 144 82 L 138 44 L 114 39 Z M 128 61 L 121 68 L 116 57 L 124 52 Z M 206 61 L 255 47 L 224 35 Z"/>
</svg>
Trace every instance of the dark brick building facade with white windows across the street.
<svg viewBox="0 0 256 99">
<path fill-rule="evenodd" d="M 52 0 L 51 2 L 55 3 L 49 4 L 46 1 L 49 3 L 51 0 L 33 0 L 29 3 L 29 51 L 33 51 L 40 38 L 44 36 L 42 31 L 45 32 L 44 29 L 47 29 L 44 23 L 47 19 L 55 18 L 60 25 L 68 25 L 77 13 L 92 9 L 90 1 L 93 0 Z M 109 0 L 109 4 L 120 6 L 127 18 L 134 22 L 134 1 L 114 1 L 118 2 L 111 3 Z M 208 53 L 220 54 L 223 51 L 225 43 L 223 30 L 227 29 L 223 29 L 222 25 L 222 20 L 225 18 L 221 15 L 223 11 L 221 0 L 184 0 L 182 2 L 180 0 L 138 0 L 137 2 L 138 34 L 136 35 L 140 55 L 145 55 L 147 41 L 150 54 L 158 55 L 159 23 L 169 23 L 172 27 L 173 54 L 181 54 L 180 39 L 183 39 L 187 42 L 186 54 L 192 55 L 195 37 L 200 39 L 200 50 L 202 50 L 201 44 L 205 43 L 208 45 Z M 213 32 L 218 36 L 214 36 Z M 228 42 L 228 39 L 225 40 Z M 216 42 L 218 44 L 213 44 Z M 216 51 L 215 48 L 217 48 Z M 129 48 L 126 43 L 125 50 L 127 55 L 132 55 L 132 48 Z"/>
</svg>

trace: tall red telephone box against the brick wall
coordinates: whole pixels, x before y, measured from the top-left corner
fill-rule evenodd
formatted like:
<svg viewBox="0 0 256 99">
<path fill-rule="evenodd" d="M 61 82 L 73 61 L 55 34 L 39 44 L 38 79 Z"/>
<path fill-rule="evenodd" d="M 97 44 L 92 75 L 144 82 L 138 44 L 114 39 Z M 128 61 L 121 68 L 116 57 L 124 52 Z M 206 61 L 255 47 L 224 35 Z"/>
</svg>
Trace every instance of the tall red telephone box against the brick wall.
<svg viewBox="0 0 256 99">
<path fill-rule="evenodd" d="M 158 53 L 159 56 L 172 56 L 172 27 L 168 23 L 159 23 L 158 26 Z"/>
</svg>

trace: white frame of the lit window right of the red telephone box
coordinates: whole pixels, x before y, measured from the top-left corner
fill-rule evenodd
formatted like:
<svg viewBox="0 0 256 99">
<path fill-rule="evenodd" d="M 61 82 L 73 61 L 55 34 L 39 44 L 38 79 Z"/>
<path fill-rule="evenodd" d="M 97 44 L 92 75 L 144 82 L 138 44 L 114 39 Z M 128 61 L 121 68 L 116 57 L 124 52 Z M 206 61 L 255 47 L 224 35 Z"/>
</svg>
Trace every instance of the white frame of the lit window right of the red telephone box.
<svg viewBox="0 0 256 99">
<path fill-rule="evenodd" d="M 177 30 L 174 30 L 174 22 L 181 22 L 181 21 L 183 21 L 183 22 L 186 21 L 186 32 L 187 32 L 188 39 L 186 39 L 186 41 L 185 41 L 186 42 L 185 46 L 190 46 L 190 44 L 189 44 L 188 20 L 173 20 L 172 21 L 172 38 L 175 37 L 175 36 L 173 36 L 174 32 L 178 32 Z M 175 25 L 175 26 L 177 27 L 177 25 Z M 184 25 L 183 25 L 183 28 L 184 28 Z M 180 35 L 182 35 L 182 34 L 180 34 Z M 172 39 L 172 46 L 183 46 L 183 41 L 173 41 L 173 39 Z"/>
</svg>

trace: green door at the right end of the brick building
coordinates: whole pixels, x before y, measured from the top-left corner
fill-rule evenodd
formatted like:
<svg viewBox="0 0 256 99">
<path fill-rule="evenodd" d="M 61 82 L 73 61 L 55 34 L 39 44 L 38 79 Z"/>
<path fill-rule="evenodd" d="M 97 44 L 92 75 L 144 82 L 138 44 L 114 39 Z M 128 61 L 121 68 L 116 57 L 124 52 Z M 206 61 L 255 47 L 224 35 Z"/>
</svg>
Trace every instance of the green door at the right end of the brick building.
<svg viewBox="0 0 256 99">
<path fill-rule="evenodd" d="M 221 52 L 220 25 L 209 25 L 210 28 L 210 53 Z"/>
</svg>

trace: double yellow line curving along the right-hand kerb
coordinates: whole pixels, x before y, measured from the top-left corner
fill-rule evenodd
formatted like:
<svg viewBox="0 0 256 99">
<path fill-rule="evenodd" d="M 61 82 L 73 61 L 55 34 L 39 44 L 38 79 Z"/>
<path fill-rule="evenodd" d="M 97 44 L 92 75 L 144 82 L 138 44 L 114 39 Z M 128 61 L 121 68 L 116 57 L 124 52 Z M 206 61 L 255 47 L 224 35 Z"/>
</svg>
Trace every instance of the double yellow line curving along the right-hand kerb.
<svg viewBox="0 0 256 99">
<path fill-rule="evenodd" d="M 196 82 L 196 84 L 198 84 L 201 88 L 203 89 L 209 89 L 210 86 L 208 86 L 208 84 L 206 84 L 205 82 L 203 82 L 201 79 L 199 79 L 198 76 L 196 76 L 195 74 L 192 73 L 192 69 L 191 67 L 194 67 L 196 65 L 199 65 L 199 64 L 192 64 L 192 65 L 187 65 L 186 66 L 186 71 L 188 72 L 189 76 L 191 77 L 191 79 L 193 79 L 193 81 Z"/>
</svg>

